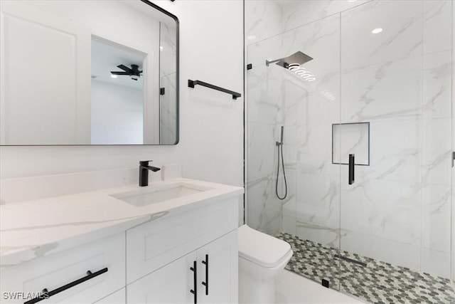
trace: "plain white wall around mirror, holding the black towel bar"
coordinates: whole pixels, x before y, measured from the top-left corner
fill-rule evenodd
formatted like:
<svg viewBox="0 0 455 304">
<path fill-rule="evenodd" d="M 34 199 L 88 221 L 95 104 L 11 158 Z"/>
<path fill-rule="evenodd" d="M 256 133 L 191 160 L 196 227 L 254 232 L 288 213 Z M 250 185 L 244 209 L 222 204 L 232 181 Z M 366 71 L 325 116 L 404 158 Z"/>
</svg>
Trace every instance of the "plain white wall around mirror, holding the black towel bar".
<svg viewBox="0 0 455 304">
<path fill-rule="evenodd" d="M 180 20 L 180 142 L 176 146 L 0 147 L 0 177 L 31 177 L 181 162 L 183 176 L 243 185 L 242 1 L 154 1 Z M 24 189 L 25 190 L 25 189 Z"/>
</svg>

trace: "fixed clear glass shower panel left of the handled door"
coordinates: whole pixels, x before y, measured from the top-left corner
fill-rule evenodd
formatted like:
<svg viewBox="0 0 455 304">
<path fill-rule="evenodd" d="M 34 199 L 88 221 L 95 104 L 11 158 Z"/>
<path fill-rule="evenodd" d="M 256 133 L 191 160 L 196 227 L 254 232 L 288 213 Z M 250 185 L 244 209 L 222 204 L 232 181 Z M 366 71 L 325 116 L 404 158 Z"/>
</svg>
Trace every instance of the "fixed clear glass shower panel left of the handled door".
<svg viewBox="0 0 455 304">
<path fill-rule="evenodd" d="M 288 270 L 337 290 L 341 164 L 333 162 L 332 126 L 340 122 L 339 22 L 330 16 L 248 46 L 245 125 L 247 224 L 291 244 Z M 311 60 L 286 68 L 285 58 L 298 52 Z M 286 183 L 282 169 L 277 174 L 282 162 Z"/>
</svg>

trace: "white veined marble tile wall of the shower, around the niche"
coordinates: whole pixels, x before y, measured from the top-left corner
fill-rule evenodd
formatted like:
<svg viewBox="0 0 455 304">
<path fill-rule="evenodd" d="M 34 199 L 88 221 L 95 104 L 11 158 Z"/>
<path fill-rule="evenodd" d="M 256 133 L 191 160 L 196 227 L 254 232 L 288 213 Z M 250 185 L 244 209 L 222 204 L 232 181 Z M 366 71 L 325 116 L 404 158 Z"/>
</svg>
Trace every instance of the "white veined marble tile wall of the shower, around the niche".
<svg viewBox="0 0 455 304">
<path fill-rule="evenodd" d="M 451 276 L 453 5 L 288 1 L 278 36 L 279 18 L 257 19 L 271 38 L 247 41 L 250 226 Z M 304 65 L 314 82 L 264 65 L 295 51 L 314 58 Z M 353 185 L 346 165 L 331 164 L 339 122 L 370 122 L 370 166 L 356 166 Z M 287 201 L 274 194 L 281 125 Z"/>
</svg>

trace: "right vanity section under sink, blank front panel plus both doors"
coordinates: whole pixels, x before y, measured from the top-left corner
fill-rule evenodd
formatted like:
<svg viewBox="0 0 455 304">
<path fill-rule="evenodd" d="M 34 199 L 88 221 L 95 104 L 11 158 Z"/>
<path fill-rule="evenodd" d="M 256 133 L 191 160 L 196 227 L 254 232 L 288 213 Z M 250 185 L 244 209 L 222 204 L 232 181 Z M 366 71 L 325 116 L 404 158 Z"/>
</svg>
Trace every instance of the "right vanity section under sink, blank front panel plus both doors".
<svg viewBox="0 0 455 304">
<path fill-rule="evenodd" d="M 237 208 L 234 197 L 127 231 L 127 303 L 195 303 L 195 290 L 197 303 L 237 303 Z"/>
</svg>

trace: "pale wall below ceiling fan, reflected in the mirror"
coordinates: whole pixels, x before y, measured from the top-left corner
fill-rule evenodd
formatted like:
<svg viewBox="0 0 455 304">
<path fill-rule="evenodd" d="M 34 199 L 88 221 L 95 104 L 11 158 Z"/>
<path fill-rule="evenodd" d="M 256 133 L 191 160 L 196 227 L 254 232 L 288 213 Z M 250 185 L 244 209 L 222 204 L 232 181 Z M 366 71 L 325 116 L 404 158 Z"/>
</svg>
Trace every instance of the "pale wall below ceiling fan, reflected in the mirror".
<svg viewBox="0 0 455 304">
<path fill-rule="evenodd" d="M 140 145 L 144 92 L 126 85 L 92 80 L 92 145 Z"/>
</svg>

